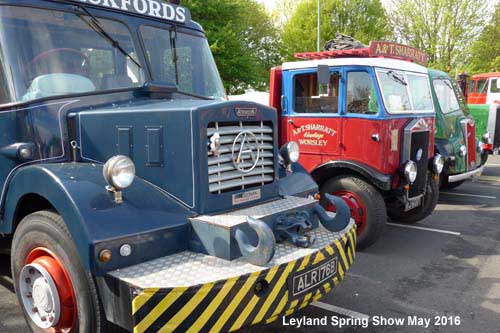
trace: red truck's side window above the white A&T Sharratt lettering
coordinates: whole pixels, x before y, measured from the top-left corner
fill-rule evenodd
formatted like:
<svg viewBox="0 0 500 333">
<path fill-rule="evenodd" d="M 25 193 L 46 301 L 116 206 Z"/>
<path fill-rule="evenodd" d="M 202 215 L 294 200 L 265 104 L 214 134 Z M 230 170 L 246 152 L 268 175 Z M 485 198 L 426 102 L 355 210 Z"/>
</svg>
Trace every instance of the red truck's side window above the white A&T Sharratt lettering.
<svg viewBox="0 0 500 333">
<path fill-rule="evenodd" d="M 327 85 L 320 86 L 318 74 L 299 74 L 294 80 L 296 113 L 338 113 L 340 75 L 333 72 Z"/>
</svg>

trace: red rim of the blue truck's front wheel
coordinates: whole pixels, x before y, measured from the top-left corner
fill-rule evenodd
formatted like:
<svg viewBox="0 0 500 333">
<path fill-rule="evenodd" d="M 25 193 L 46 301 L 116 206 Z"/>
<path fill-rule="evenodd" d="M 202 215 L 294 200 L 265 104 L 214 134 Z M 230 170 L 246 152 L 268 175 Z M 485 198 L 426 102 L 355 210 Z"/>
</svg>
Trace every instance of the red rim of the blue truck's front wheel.
<svg viewBox="0 0 500 333">
<path fill-rule="evenodd" d="M 28 257 L 26 258 L 26 266 L 40 267 L 40 270 L 45 274 L 49 274 L 51 283 L 57 289 L 57 292 L 50 293 L 46 292 L 46 295 L 42 293 L 42 299 L 50 298 L 48 296 L 57 297 L 58 301 L 58 313 L 59 318 L 54 325 L 49 328 L 49 332 L 74 332 L 74 327 L 77 321 L 77 306 L 76 297 L 71 283 L 70 277 L 63 263 L 59 258 L 46 248 L 36 248 L 32 250 Z M 28 279 L 29 280 L 29 279 Z M 46 279 L 47 280 L 47 279 Z M 24 283 L 26 281 L 21 281 Z M 42 289 L 43 288 L 39 288 Z M 36 290 L 33 290 L 32 297 L 35 298 Z M 32 309 L 26 309 L 26 311 L 33 311 Z M 47 320 L 47 319 L 45 319 Z M 49 319 L 50 320 L 50 319 Z"/>
</svg>

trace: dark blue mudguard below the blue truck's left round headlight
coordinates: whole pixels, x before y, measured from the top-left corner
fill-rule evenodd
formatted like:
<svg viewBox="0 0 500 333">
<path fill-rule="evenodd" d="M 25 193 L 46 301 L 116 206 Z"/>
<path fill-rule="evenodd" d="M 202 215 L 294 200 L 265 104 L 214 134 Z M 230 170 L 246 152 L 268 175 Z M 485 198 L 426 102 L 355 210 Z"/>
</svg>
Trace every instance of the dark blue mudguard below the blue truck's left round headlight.
<svg viewBox="0 0 500 333">
<path fill-rule="evenodd" d="M 194 213 L 168 193 L 136 178 L 123 192 L 123 203 L 105 189 L 102 166 L 63 163 L 27 166 L 13 176 L 0 232 L 11 234 L 20 200 L 28 194 L 48 200 L 67 224 L 84 268 L 97 276 L 187 249 L 188 218 Z M 132 254 L 120 256 L 123 244 Z M 103 249 L 113 260 L 97 260 Z"/>
</svg>

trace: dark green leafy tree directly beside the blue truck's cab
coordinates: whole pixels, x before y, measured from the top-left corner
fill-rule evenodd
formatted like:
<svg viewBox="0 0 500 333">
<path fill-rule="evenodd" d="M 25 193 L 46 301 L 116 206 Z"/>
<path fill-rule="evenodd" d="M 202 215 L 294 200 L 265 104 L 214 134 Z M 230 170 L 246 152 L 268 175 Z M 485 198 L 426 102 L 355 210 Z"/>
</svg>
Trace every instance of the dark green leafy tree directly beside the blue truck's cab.
<svg viewBox="0 0 500 333">
<path fill-rule="evenodd" d="M 255 0 L 185 0 L 206 31 L 229 94 L 265 90 L 269 70 L 280 62 L 279 33 Z"/>
</svg>

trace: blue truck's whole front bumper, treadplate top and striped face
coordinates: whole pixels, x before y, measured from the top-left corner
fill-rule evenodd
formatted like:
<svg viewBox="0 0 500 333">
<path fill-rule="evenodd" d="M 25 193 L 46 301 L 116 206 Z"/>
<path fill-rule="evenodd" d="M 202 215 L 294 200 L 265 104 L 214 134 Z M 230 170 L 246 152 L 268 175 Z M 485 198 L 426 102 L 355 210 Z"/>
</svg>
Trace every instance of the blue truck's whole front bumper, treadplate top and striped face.
<svg viewBox="0 0 500 333">
<path fill-rule="evenodd" d="M 314 236 L 311 248 L 277 244 L 265 267 L 186 251 L 113 271 L 106 284 L 120 295 L 115 309 L 124 309 L 116 324 L 136 333 L 218 333 L 290 315 L 330 292 L 355 257 L 354 222 L 338 233 L 320 226 Z M 292 296 L 297 273 L 335 259 L 334 275 L 310 286 L 306 281 Z"/>
</svg>

